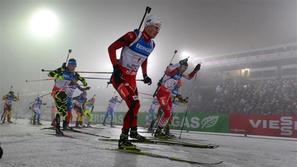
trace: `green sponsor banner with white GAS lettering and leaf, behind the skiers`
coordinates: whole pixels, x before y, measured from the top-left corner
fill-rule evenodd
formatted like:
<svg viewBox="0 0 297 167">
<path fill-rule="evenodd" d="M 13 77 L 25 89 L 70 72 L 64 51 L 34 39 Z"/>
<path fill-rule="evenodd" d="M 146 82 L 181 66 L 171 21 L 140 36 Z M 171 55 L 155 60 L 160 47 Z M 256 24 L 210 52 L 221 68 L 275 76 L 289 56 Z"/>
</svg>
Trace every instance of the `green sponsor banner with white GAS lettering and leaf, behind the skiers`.
<svg viewBox="0 0 297 167">
<path fill-rule="evenodd" d="M 105 117 L 103 112 L 94 112 L 94 122 L 102 123 Z M 126 113 L 115 112 L 114 124 L 122 125 Z M 184 113 L 175 113 L 172 129 L 181 129 L 184 121 Z M 147 112 L 140 112 L 137 116 L 138 126 L 148 127 L 150 124 Z M 110 124 L 110 116 L 106 119 L 106 124 Z M 189 112 L 184 122 L 184 130 L 204 131 L 204 132 L 229 132 L 229 116 L 228 114 L 212 114 L 201 112 Z"/>
</svg>

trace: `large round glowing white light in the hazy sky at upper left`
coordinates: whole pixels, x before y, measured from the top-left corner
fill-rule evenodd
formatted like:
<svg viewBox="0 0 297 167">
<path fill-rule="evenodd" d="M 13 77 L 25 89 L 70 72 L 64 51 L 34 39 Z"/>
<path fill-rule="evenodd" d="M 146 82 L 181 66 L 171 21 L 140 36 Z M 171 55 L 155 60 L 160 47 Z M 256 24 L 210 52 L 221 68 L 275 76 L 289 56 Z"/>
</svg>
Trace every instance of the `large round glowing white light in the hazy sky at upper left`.
<svg viewBox="0 0 297 167">
<path fill-rule="evenodd" d="M 53 11 L 41 9 L 36 11 L 29 23 L 32 34 L 40 37 L 52 37 L 59 28 L 58 17 Z"/>
</svg>

